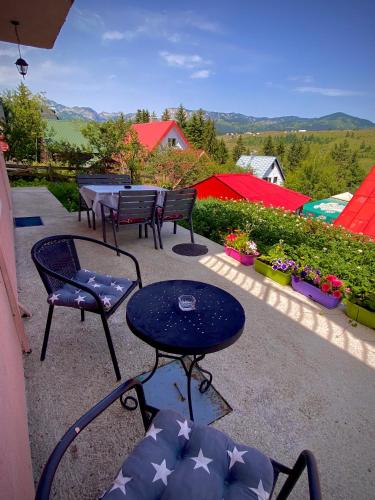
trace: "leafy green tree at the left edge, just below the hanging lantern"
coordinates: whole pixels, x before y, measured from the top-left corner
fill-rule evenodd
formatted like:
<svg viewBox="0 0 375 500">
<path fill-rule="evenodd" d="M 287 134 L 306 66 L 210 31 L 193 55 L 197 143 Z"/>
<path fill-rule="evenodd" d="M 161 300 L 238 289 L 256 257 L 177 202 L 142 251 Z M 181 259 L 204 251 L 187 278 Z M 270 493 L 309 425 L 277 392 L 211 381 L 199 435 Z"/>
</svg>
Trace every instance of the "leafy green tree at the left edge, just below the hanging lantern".
<svg viewBox="0 0 375 500">
<path fill-rule="evenodd" d="M 6 116 L 3 129 L 9 144 L 9 156 L 18 161 L 37 161 L 46 131 L 46 123 L 41 116 L 43 97 L 33 95 L 24 83 L 20 83 L 17 90 L 3 94 L 2 102 Z"/>
</svg>

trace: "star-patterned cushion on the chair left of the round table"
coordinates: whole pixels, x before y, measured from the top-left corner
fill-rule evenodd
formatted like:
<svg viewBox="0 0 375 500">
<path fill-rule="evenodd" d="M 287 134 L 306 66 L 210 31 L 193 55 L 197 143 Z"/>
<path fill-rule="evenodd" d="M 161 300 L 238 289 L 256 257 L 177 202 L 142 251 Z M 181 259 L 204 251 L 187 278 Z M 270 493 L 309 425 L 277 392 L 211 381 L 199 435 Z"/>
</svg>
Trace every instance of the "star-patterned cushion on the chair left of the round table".
<svg viewBox="0 0 375 500">
<path fill-rule="evenodd" d="M 82 283 L 99 295 L 105 311 L 112 309 L 133 284 L 127 278 L 106 276 L 88 269 L 80 269 L 71 279 Z M 98 304 L 92 295 L 69 284 L 51 293 L 47 302 L 54 306 L 75 307 L 88 311 L 98 310 Z"/>
</svg>

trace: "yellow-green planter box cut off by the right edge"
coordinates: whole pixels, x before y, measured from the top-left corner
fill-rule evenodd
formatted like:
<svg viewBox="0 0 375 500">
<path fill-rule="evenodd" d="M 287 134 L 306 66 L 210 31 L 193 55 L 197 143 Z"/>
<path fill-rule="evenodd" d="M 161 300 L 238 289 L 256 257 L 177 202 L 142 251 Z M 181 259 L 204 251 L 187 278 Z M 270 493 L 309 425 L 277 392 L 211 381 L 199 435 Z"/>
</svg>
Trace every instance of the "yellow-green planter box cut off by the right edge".
<svg viewBox="0 0 375 500">
<path fill-rule="evenodd" d="M 375 292 L 364 286 L 349 290 L 345 313 L 362 325 L 375 329 Z"/>
</svg>

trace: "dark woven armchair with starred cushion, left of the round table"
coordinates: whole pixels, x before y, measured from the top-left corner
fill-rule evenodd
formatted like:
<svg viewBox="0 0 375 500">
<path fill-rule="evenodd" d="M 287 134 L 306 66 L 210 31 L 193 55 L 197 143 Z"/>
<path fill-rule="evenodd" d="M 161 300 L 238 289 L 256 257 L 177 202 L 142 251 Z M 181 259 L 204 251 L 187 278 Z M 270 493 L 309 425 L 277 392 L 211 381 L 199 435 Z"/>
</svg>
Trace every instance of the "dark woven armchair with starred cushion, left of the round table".
<svg viewBox="0 0 375 500">
<path fill-rule="evenodd" d="M 135 266 L 136 280 L 98 274 L 88 269 L 81 269 L 75 240 L 88 241 L 129 257 Z M 58 235 L 44 238 L 35 243 L 31 257 L 46 287 L 49 304 L 47 324 L 44 333 L 41 361 L 46 356 L 48 337 L 55 306 L 80 309 L 81 321 L 85 311 L 99 314 L 111 354 L 117 380 L 121 379 L 108 318 L 117 310 L 126 297 L 137 287 L 142 288 L 141 273 L 137 259 L 128 252 L 114 248 L 102 241 L 76 235 Z"/>
</svg>

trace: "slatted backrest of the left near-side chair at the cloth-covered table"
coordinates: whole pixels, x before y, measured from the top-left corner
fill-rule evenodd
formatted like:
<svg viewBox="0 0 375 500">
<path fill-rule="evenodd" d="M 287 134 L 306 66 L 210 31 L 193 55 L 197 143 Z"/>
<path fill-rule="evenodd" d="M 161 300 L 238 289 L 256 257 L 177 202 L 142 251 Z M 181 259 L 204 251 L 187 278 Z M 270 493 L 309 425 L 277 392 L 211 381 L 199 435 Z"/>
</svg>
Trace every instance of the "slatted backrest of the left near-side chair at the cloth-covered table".
<svg viewBox="0 0 375 500">
<path fill-rule="evenodd" d="M 158 192 L 154 190 L 120 191 L 118 220 L 154 220 Z"/>
</svg>

